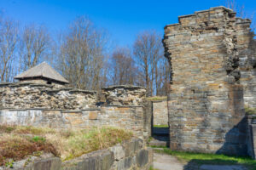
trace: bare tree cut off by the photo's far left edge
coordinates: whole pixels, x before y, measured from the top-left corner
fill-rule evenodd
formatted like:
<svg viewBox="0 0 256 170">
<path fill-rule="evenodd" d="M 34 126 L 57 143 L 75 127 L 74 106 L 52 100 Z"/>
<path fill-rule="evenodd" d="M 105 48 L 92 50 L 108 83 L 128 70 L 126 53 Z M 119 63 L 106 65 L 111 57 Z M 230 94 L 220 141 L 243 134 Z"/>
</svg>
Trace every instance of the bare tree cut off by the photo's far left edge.
<svg viewBox="0 0 256 170">
<path fill-rule="evenodd" d="M 1 82 L 12 80 L 15 49 L 18 42 L 18 26 L 13 20 L 0 20 L 0 77 Z"/>
</svg>

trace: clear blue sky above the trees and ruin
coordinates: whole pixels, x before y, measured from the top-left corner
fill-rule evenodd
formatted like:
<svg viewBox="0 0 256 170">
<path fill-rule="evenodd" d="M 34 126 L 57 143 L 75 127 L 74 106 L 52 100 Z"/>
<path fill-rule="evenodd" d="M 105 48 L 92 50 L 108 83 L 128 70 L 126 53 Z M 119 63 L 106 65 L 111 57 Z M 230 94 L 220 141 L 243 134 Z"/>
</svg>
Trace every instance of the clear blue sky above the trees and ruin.
<svg viewBox="0 0 256 170">
<path fill-rule="evenodd" d="M 237 0 L 248 14 L 256 11 L 256 0 Z M 177 22 L 177 16 L 225 5 L 225 0 L 0 0 L 4 15 L 22 24 L 44 24 L 54 33 L 64 30 L 77 16 L 86 15 L 96 26 L 108 30 L 113 42 L 131 46 L 137 33 L 154 29 L 163 34 L 167 24 Z"/>
</svg>

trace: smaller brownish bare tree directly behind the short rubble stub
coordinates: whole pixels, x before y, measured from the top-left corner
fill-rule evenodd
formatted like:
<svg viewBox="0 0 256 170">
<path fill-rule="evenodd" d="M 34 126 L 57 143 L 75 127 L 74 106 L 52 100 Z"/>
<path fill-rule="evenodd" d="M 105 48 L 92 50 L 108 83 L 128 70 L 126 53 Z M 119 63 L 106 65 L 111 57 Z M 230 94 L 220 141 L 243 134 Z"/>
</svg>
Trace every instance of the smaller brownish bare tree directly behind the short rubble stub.
<svg viewBox="0 0 256 170">
<path fill-rule="evenodd" d="M 137 68 L 131 58 L 129 48 L 117 48 L 111 59 L 112 84 L 133 84 L 136 82 Z"/>
</svg>

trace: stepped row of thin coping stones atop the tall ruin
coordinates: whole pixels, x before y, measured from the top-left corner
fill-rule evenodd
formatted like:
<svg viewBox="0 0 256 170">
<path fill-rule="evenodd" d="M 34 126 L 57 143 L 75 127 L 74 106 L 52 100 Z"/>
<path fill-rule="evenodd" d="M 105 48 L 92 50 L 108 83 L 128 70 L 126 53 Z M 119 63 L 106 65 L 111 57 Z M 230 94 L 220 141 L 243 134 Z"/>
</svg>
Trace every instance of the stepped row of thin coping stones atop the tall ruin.
<svg viewBox="0 0 256 170">
<path fill-rule="evenodd" d="M 210 9 L 207 9 L 207 10 L 201 10 L 201 11 L 195 11 L 194 14 L 185 14 L 185 15 L 181 15 L 181 16 L 178 16 L 178 23 L 175 23 L 175 24 L 170 24 L 170 25 L 166 25 L 165 26 L 165 29 L 167 27 L 172 27 L 172 26 L 179 26 L 181 25 L 181 22 L 180 22 L 180 19 L 183 19 L 183 18 L 189 18 L 189 17 L 193 17 L 193 16 L 196 16 L 200 13 L 207 13 L 207 12 L 210 12 L 210 11 L 214 11 L 214 10 L 218 10 L 218 9 L 223 9 L 224 11 L 228 12 L 229 14 L 231 15 L 236 15 L 236 12 L 234 12 L 232 9 L 230 8 L 225 8 L 224 6 L 219 6 L 219 7 L 213 7 L 213 8 L 210 8 Z M 237 21 L 237 18 L 236 18 L 236 21 Z M 239 22 L 237 23 L 240 23 L 240 24 L 244 24 L 244 23 L 249 23 L 251 22 L 249 19 L 239 19 Z"/>
</svg>

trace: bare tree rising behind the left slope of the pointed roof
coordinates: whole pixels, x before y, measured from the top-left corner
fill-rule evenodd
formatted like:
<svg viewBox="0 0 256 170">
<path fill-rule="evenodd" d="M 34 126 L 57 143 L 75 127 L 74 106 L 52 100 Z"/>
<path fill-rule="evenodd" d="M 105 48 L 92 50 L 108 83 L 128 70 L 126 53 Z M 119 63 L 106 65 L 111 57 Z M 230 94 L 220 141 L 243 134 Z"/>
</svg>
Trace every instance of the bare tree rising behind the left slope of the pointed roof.
<svg viewBox="0 0 256 170">
<path fill-rule="evenodd" d="M 49 33 L 44 26 L 26 26 L 20 37 L 21 70 L 35 66 L 49 52 Z"/>
</svg>

